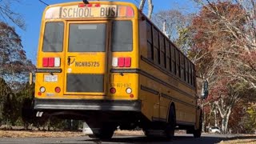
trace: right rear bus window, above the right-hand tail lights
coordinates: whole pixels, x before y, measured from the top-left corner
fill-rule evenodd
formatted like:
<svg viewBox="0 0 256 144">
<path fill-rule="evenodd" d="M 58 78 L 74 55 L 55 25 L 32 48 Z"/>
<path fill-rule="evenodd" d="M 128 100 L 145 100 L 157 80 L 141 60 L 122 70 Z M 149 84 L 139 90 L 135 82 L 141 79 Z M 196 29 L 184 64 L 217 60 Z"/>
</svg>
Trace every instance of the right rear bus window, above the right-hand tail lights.
<svg viewBox="0 0 256 144">
<path fill-rule="evenodd" d="M 133 28 L 131 21 L 112 23 L 112 51 L 133 50 Z"/>
</svg>

